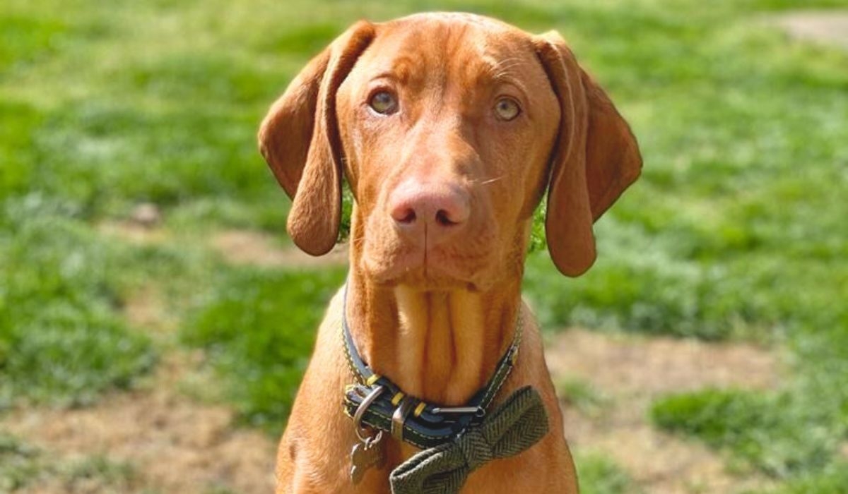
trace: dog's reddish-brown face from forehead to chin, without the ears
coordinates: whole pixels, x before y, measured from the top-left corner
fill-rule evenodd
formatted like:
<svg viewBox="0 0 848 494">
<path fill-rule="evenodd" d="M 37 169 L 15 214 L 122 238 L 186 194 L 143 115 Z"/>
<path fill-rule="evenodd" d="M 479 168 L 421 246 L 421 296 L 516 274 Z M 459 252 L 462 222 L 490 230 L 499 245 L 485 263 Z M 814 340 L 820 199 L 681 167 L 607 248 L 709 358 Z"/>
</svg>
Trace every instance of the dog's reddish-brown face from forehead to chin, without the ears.
<svg viewBox="0 0 848 494">
<path fill-rule="evenodd" d="M 560 118 L 526 36 L 406 19 L 371 42 L 336 104 L 367 275 L 427 287 L 514 275 Z"/>
</svg>

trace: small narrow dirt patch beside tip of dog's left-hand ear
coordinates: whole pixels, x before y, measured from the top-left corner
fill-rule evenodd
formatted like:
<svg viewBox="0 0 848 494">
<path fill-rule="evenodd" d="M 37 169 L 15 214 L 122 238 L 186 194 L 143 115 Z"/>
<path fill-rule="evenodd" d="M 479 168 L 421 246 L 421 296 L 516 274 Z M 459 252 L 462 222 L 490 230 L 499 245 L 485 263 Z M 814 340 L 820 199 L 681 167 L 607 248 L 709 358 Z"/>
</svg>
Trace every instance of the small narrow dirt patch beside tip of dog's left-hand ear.
<svg viewBox="0 0 848 494">
<path fill-rule="evenodd" d="M 338 245 L 330 253 L 316 258 L 297 247 L 277 247 L 273 237 L 248 230 L 228 230 L 219 233 L 212 238 L 212 247 L 215 247 L 215 250 L 232 264 L 316 268 L 348 262 L 347 245 Z"/>
</svg>

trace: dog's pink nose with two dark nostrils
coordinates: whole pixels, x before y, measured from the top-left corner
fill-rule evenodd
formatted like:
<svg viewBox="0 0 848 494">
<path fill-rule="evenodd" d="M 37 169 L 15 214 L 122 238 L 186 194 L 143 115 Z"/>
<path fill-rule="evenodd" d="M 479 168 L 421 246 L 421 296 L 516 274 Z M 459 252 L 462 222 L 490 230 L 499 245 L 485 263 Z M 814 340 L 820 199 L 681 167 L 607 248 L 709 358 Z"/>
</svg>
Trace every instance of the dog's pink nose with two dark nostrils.
<svg viewBox="0 0 848 494">
<path fill-rule="evenodd" d="M 406 180 L 389 199 L 394 224 L 407 236 L 422 238 L 427 230 L 427 243 L 445 237 L 465 225 L 471 208 L 468 194 L 445 183 L 422 183 Z"/>
</svg>

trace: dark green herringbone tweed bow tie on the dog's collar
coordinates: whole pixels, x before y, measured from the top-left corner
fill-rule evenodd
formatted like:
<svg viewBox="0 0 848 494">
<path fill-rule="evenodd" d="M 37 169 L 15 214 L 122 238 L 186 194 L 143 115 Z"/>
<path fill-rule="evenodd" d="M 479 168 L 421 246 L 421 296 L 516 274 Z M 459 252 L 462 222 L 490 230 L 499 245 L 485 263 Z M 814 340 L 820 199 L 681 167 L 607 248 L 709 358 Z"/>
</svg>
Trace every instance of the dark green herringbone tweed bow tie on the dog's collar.
<svg viewBox="0 0 848 494">
<path fill-rule="evenodd" d="M 483 423 L 431 447 L 388 476 L 393 494 L 455 494 L 483 463 L 514 456 L 548 433 L 542 398 L 530 386 L 514 392 Z"/>
</svg>

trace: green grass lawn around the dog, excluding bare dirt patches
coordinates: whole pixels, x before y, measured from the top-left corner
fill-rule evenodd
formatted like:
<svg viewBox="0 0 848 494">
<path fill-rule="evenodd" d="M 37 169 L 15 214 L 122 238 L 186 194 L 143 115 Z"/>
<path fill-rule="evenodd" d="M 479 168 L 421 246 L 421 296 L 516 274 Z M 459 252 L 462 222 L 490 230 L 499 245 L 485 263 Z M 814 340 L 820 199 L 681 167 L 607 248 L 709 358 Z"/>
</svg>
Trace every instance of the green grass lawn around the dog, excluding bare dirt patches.
<svg viewBox="0 0 848 494">
<path fill-rule="evenodd" d="M 92 406 L 170 352 L 201 349 L 239 423 L 282 430 L 344 274 L 232 264 L 209 245 L 237 229 L 288 246 L 259 120 L 354 19 L 465 10 L 561 31 L 644 155 L 644 175 L 596 227 L 589 274 L 567 280 L 547 253 L 530 255 L 525 291 L 545 329 L 755 341 L 785 355 L 778 389 L 661 397 L 650 420 L 771 491 L 844 492 L 848 53 L 769 23 L 795 4 L 4 0 L 0 414 Z M 161 212 L 161 241 L 107 233 L 141 203 Z M 163 294 L 176 331 L 126 317 L 145 290 Z M 34 451 L 0 435 L 0 459 L 38 469 Z M 633 489 L 595 453 L 578 468 L 588 492 Z M 24 483 L 20 472 L 0 468 L 0 491 Z"/>
</svg>

